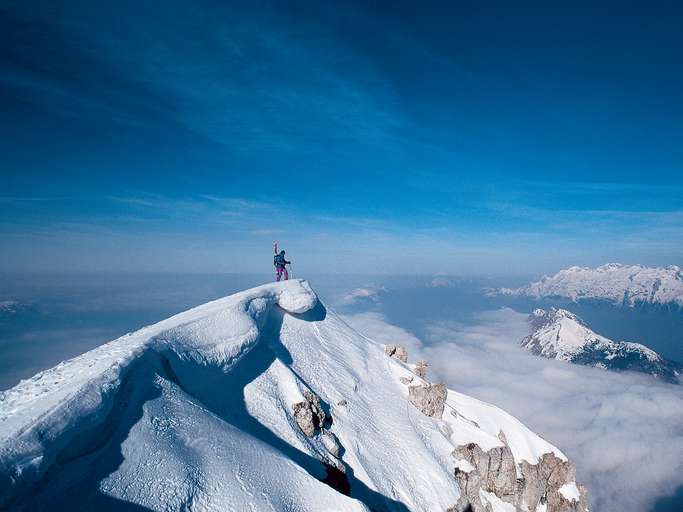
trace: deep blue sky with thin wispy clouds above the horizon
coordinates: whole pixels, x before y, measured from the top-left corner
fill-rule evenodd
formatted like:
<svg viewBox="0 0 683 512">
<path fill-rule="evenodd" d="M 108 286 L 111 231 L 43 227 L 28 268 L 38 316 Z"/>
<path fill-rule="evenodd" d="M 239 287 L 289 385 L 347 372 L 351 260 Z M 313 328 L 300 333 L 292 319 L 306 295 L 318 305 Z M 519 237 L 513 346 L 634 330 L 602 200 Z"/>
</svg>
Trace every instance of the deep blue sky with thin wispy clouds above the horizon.
<svg viewBox="0 0 683 512">
<path fill-rule="evenodd" d="M 681 8 L 313 4 L 4 2 L 0 271 L 683 264 Z"/>
</svg>

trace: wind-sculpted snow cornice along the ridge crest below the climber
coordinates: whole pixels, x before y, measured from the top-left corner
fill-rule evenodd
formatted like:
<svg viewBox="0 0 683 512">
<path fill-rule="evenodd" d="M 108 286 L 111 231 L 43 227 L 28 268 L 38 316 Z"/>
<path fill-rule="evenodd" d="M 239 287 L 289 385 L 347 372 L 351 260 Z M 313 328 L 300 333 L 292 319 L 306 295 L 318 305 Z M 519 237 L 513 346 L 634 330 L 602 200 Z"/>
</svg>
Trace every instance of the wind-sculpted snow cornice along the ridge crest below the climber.
<svg viewBox="0 0 683 512">
<path fill-rule="evenodd" d="M 65 459 L 83 458 L 107 442 L 122 402 L 139 388 L 147 393 L 155 371 L 163 373 L 166 350 L 179 359 L 227 368 L 256 343 L 268 309 L 278 305 L 305 313 L 316 303 L 303 281 L 242 292 L 123 336 L 0 394 L 0 506 L 46 477 L 53 479 L 49 470 Z M 151 393 L 170 390 L 164 401 L 173 401 L 177 388 L 159 382 L 165 385 Z M 160 457 L 159 464 L 168 461 Z"/>
</svg>

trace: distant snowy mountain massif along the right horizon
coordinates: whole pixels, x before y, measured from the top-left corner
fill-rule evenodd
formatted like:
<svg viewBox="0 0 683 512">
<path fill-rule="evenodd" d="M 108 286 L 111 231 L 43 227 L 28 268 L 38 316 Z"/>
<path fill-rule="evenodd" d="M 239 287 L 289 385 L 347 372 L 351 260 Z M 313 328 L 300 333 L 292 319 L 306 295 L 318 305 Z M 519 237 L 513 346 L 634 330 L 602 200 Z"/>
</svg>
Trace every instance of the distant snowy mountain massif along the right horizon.
<svg viewBox="0 0 683 512">
<path fill-rule="evenodd" d="M 639 303 L 683 307 L 683 272 L 675 265 L 653 268 L 610 263 L 597 268 L 571 267 L 528 286 L 502 288 L 497 293 L 572 301 L 607 300 L 629 307 Z"/>
</svg>

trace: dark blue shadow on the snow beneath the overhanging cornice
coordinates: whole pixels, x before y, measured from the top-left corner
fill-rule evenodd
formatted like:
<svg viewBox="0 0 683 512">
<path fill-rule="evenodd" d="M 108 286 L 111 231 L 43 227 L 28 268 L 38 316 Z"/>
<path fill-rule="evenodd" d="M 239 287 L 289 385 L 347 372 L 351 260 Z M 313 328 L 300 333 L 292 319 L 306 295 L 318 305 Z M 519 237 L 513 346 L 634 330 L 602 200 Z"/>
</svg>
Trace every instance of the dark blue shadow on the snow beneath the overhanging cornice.
<svg viewBox="0 0 683 512">
<path fill-rule="evenodd" d="M 157 375 L 176 383 L 201 405 L 223 421 L 255 437 L 299 465 L 312 477 L 355 498 L 372 510 L 407 512 L 408 508 L 370 489 L 354 476 L 324 464 L 278 437 L 254 418 L 247 409 L 244 389 L 279 359 L 292 372 L 292 356 L 280 339 L 286 313 L 278 306 L 271 310 L 261 336 L 230 371 L 180 360 L 170 352 L 149 351 L 128 369 L 104 422 L 76 436 L 63 449 L 56 463 L 40 482 L 25 494 L 30 498 L 12 504 L 13 510 L 98 510 L 143 512 L 146 507 L 105 494 L 101 484 L 124 461 L 122 445 L 131 429 L 143 417 L 145 403 L 161 396 L 154 383 Z M 292 315 L 305 321 L 324 320 L 325 307 L 318 303 L 304 314 Z M 298 377 L 298 375 L 297 375 Z M 303 382 L 303 379 L 300 379 Z M 240 390 L 241 392 L 231 392 Z M 323 404 L 329 412 L 329 406 Z M 343 448 L 341 453 L 343 454 Z M 189 504 L 188 504 L 189 505 Z"/>
</svg>

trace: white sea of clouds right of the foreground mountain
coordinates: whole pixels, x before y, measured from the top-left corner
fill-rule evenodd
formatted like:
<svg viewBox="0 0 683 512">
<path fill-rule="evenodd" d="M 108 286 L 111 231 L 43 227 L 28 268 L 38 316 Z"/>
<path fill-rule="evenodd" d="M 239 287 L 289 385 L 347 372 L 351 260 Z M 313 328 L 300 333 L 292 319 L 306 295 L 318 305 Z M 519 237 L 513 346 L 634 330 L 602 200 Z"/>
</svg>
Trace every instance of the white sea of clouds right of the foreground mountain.
<svg viewBox="0 0 683 512">
<path fill-rule="evenodd" d="M 433 321 L 423 339 L 379 313 L 346 315 L 359 331 L 425 358 L 432 380 L 496 404 L 561 448 L 589 489 L 592 510 L 643 512 L 683 484 L 683 386 L 534 356 L 519 347 L 527 315 Z"/>
</svg>

